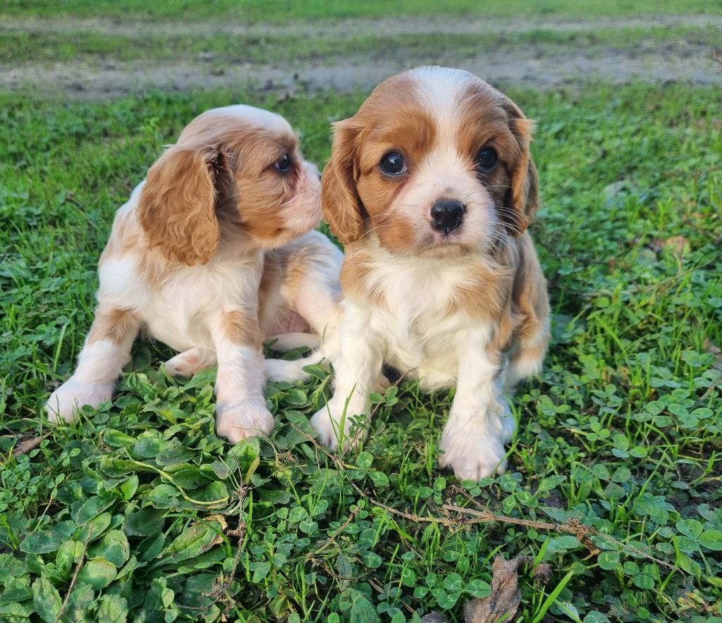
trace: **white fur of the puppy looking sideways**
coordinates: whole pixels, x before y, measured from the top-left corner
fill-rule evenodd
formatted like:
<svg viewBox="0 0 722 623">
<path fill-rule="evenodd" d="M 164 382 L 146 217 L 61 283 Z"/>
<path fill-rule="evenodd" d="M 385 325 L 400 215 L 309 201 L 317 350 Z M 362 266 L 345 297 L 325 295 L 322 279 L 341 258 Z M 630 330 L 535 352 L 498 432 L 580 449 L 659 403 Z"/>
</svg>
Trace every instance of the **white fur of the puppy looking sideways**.
<svg viewBox="0 0 722 623">
<path fill-rule="evenodd" d="M 290 131 L 282 117 L 265 110 L 232 106 L 221 112 L 225 116 L 232 113 L 244 123 Z M 193 124 L 186 129 L 192 134 Z M 271 360 L 266 367 L 260 349 L 248 345 L 253 339 L 233 341 L 228 327 L 230 319 L 240 315 L 252 319 L 261 336 L 269 337 L 289 331 L 284 323 L 297 316 L 306 331 L 310 328 L 315 333 L 311 344 L 320 341 L 326 331 L 335 333 L 343 256 L 320 232 L 308 231 L 321 217 L 318 170 L 303 163 L 294 194 L 283 208 L 284 225 L 297 236 L 295 240 L 278 251 L 266 251 L 243 232 L 222 230 L 214 256 L 193 266 L 170 262 L 160 250 L 149 248 L 138 218 L 144 183 L 118 210 L 99 264 L 96 328 L 116 323 L 118 336 L 86 340 L 77 370 L 45 406 L 48 417 L 52 422 L 70 422 L 79 407 L 97 407 L 110 400 L 116 378 L 130 360 L 131 345 L 143 327 L 153 338 L 180 351 L 165 364 L 170 374 L 189 376 L 217 363 L 219 435 L 234 443 L 249 435 L 267 435 L 274 420 L 263 395 L 266 378 L 292 378 L 300 366 L 288 362 L 289 370 L 276 369 Z M 268 253 L 284 253 L 302 277 L 295 282 L 279 277 L 280 283 L 274 284 L 277 291 L 269 292 L 259 310 L 259 284 L 264 263 L 270 261 Z M 121 316 L 124 323 L 117 321 Z M 92 335 L 91 331 L 89 338 Z M 298 334 L 293 335 L 296 337 L 287 341 L 298 339 Z"/>
</svg>

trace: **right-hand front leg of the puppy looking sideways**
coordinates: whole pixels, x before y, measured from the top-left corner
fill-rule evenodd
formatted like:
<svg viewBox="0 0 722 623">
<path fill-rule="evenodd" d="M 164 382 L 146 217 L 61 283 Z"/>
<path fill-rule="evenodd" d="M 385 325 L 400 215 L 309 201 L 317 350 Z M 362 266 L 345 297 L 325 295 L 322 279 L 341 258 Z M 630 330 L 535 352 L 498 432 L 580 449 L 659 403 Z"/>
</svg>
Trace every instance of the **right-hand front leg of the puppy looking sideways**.
<svg viewBox="0 0 722 623">
<path fill-rule="evenodd" d="M 219 314 L 211 330 L 218 358 L 216 433 L 238 443 L 269 435 L 274 420 L 264 398 L 264 358 L 256 308 Z"/>
</svg>

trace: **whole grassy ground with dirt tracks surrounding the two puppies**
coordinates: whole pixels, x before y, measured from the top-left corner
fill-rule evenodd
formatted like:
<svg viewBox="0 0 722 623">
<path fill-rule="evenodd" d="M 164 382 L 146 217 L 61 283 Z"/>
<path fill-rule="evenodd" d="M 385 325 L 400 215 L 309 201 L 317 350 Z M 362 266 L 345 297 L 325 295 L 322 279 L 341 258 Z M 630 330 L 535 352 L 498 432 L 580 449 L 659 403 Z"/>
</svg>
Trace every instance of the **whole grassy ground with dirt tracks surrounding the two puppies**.
<svg viewBox="0 0 722 623">
<path fill-rule="evenodd" d="M 480 620 L 492 590 L 513 611 L 500 556 L 529 557 L 507 578 L 523 621 L 722 621 L 719 6 L 146 4 L 0 9 L 0 619 Z M 554 336 L 507 474 L 440 471 L 450 397 L 403 381 L 360 451 L 327 453 L 320 368 L 269 387 L 271 440 L 231 447 L 214 371 L 169 378 L 148 342 L 113 404 L 48 427 L 113 212 L 162 145 L 245 102 L 323 164 L 329 122 L 422 62 L 536 120 Z"/>
</svg>

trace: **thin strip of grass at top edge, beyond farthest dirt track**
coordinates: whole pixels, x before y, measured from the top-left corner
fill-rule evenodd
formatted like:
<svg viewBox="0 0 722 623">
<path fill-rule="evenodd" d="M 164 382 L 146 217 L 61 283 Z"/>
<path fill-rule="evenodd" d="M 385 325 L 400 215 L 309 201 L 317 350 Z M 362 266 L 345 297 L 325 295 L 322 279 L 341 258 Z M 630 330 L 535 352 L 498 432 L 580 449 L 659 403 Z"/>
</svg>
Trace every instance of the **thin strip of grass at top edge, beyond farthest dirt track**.
<svg viewBox="0 0 722 623">
<path fill-rule="evenodd" d="M 151 19 L 224 19 L 240 22 L 317 19 L 319 17 L 393 17 L 477 15 L 479 17 L 599 17 L 608 15 L 719 13 L 710 0 L 5 0 L 0 14 L 37 17 L 147 17 Z"/>
</svg>

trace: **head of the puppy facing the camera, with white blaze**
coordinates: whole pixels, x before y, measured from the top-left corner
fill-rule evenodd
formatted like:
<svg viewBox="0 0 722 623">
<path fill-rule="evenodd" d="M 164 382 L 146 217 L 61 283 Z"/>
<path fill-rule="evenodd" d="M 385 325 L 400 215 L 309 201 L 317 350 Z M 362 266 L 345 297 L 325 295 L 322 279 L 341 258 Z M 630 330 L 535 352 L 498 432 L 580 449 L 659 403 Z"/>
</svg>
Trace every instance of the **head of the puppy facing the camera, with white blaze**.
<svg viewBox="0 0 722 623">
<path fill-rule="evenodd" d="M 538 204 L 532 122 L 458 69 L 382 82 L 334 125 L 323 212 L 339 240 L 367 236 L 399 255 L 491 252 Z"/>
</svg>

